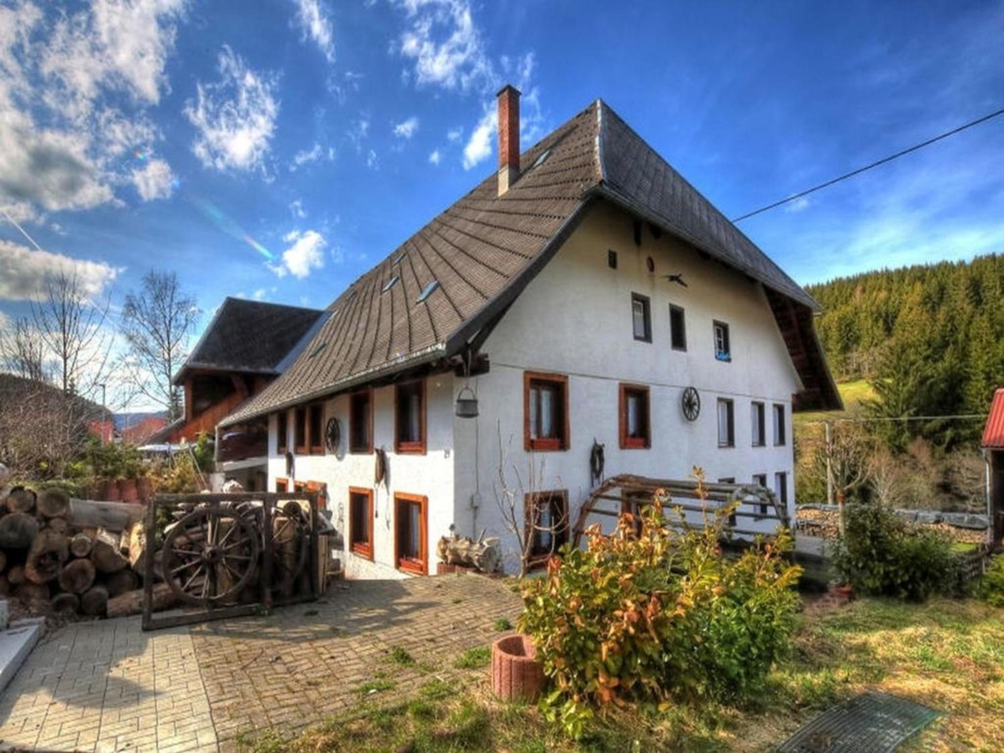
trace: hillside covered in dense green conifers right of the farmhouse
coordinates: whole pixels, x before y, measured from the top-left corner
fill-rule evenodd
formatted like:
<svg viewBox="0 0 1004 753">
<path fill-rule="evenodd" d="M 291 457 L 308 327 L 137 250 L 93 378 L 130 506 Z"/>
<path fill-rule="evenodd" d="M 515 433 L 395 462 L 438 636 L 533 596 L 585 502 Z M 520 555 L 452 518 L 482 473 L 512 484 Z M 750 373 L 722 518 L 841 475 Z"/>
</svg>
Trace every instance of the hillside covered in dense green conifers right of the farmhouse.
<svg viewBox="0 0 1004 753">
<path fill-rule="evenodd" d="M 885 413 L 985 413 L 1004 381 L 1004 255 L 810 285 L 838 382 L 877 387 Z"/>
</svg>

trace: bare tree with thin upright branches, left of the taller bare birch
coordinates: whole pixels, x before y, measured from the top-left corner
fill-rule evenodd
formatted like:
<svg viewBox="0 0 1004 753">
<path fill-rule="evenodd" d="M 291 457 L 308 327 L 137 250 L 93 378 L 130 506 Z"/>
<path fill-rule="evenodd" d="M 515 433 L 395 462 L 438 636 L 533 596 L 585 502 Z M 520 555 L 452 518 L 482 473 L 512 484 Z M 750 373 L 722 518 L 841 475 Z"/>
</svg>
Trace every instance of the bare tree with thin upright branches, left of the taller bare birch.
<svg viewBox="0 0 1004 753">
<path fill-rule="evenodd" d="M 92 396 L 104 382 L 111 352 L 108 306 L 107 297 L 90 300 L 76 272 L 66 271 L 49 277 L 31 304 L 32 324 L 65 395 Z"/>
</svg>

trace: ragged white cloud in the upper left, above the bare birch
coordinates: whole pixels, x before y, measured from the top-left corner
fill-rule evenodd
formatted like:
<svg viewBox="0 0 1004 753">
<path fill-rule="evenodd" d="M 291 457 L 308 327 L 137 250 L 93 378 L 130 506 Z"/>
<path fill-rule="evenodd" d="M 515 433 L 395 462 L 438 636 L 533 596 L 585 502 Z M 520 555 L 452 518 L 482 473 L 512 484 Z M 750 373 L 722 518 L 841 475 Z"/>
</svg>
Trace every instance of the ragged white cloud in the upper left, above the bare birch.
<svg viewBox="0 0 1004 753">
<path fill-rule="evenodd" d="M 207 168 L 260 168 L 279 114 L 275 76 L 255 72 L 226 45 L 218 68 L 220 80 L 200 81 L 196 100 L 185 106 L 185 114 L 199 132 L 192 151 Z"/>
</svg>

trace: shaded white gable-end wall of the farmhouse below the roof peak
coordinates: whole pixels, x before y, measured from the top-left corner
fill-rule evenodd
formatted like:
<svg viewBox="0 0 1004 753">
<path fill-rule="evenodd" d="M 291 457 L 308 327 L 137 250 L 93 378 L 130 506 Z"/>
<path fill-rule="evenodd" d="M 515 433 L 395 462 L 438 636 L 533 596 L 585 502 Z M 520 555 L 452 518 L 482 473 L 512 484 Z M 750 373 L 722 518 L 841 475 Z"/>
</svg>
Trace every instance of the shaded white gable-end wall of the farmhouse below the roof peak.
<svg viewBox="0 0 1004 753">
<path fill-rule="evenodd" d="M 607 266 L 607 250 L 617 252 L 616 269 Z M 654 273 L 646 267 L 649 256 L 655 261 Z M 688 286 L 667 281 L 667 274 L 683 274 Z M 651 343 L 634 339 L 632 292 L 651 299 Z M 670 345 L 670 303 L 686 311 L 686 352 Z M 715 358 L 714 319 L 729 324 L 731 362 Z M 472 380 L 481 415 L 476 421 L 456 423 L 458 518 L 466 517 L 468 526 L 465 530 L 460 525 L 461 532 L 504 528 L 496 502 L 502 490 L 500 444 L 506 486 L 528 489 L 532 478 L 534 489 L 567 490 L 572 521 L 590 490 L 588 461 L 594 439 L 605 446 L 607 477 L 636 473 L 685 479 L 698 465 L 709 481 L 734 477 L 752 483 L 754 474 L 766 473 L 773 486 L 774 473 L 784 471 L 793 511 L 791 396 L 799 383 L 762 287 L 666 235 L 655 239 L 646 227 L 639 248 L 631 218 L 614 208 L 601 205 L 593 210 L 516 300 L 483 350 L 491 370 Z M 568 450 L 523 450 L 525 370 L 568 375 Z M 619 449 L 619 383 L 650 386 L 650 449 Z M 688 386 L 696 387 L 702 400 L 701 415 L 693 423 L 680 407 Z M 718 447 L 720 397 L 734 401 L 734 448 Z M 765 403 L 765 447 L 752 446 L 754 400 Z M 781 447 L 773 446 L 772 404 L 784 406 L 786 443 Z M 476 464 L 469 463 L 475 455 Z M 480 499 L 476 520 L 472 498 Z M 741 527 L 754 527 L 752 519 L 740 520 Z M 609 521 L 604 522 L 608 527 Z M 512 569 L 514 538 L 508 538 L 505 549 Z"/>
</svg>

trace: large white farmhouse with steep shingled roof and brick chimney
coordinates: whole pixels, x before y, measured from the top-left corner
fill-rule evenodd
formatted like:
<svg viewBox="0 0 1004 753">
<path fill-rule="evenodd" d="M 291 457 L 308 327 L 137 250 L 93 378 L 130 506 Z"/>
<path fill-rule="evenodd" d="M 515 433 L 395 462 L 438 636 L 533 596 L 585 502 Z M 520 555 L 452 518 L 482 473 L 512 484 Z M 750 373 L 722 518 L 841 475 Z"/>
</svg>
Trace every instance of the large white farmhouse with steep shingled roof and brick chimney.
<svg viewBox="0 0 1004 753">
<path fill-rule="evenodd" d="M 793 509 L 791 414 L 839 406 L 816 303 L 609 106 L 521 155 L 518 103 L 499 92 L 498 174 L 221 422 L 267 417 L 269 488 L 326 490 L 350 576 L 435 572 L 451 529 L 502 536 L 515 569 L 500 500 L 573 518 L 596 444 L 607 476 L 701 466 Z"/>
</svg>

